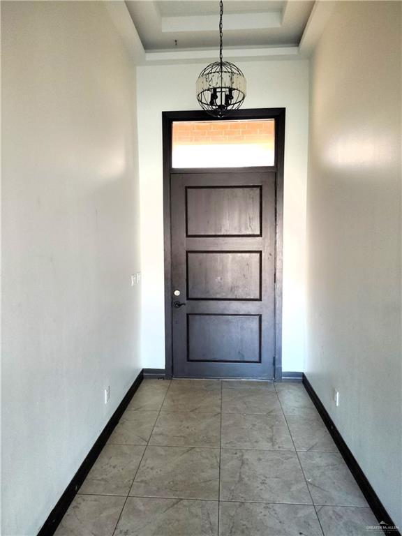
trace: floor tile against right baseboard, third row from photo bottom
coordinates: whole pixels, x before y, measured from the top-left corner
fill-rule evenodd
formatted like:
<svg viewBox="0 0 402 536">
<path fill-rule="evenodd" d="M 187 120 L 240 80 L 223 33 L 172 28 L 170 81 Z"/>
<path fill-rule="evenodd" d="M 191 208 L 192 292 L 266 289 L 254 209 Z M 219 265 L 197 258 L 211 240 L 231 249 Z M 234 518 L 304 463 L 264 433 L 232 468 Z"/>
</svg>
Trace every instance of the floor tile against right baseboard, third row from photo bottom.
<svg viewBox="0 0 402 536">
<path fill-rule="evenodd" d="M 331 434 L 319 417 L 287 415 L 296 450 L 338 452 Z"/>
</svg>

